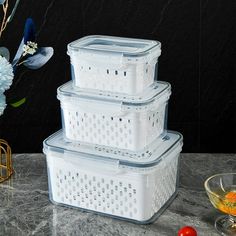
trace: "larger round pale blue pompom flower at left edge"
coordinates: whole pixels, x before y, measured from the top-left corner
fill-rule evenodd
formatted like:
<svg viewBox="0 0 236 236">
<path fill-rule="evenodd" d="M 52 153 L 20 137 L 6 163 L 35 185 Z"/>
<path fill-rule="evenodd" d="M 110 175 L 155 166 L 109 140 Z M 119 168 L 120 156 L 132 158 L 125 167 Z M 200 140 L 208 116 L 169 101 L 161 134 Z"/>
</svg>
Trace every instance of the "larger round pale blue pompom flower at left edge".
<svg viewBox="0 0 236 236">
<path fill-rule="evenodd" d="M 0 56 L 0 93 L 10 88 L 13 77 L 12 65 L 5 57 Z"/>
</svg>

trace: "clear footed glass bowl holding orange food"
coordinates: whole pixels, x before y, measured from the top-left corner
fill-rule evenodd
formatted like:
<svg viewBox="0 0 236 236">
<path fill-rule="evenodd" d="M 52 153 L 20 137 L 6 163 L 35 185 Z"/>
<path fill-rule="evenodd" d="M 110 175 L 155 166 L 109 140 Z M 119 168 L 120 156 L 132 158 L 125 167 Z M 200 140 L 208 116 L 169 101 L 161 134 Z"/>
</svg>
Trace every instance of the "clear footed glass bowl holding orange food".
<svg viewBox="0 0 236 236">
<path fill-rule="evenodd" d="M 221 235 L 236 235 L 236 173 L 216 174 L 205 183 L 212 205 L 227 214 L 215 221 L 215 228 Z"/>
</svg>

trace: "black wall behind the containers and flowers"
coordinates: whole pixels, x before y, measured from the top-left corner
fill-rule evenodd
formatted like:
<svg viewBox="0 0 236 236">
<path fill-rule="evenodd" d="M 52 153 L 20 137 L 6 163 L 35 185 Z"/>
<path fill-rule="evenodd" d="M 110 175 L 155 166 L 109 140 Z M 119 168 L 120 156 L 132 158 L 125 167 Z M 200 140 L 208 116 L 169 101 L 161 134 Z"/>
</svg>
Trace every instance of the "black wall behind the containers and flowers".
<svg viewBox="0 0 236 236">
<path fill-rule="evenodd" d="M 56 89 L 71 79 L 67 44 L 103 34 L 162 42 L 159 79 L 172 85 L 168 128 L 184 135 L 184 152 L 235 152 L 234 14 L 233 0 L 22 0 L 0 45 L 15 52 L 32 17 L 38 44 L 55 54 L 40 70 L 19 71 L 7 99 L 27 102 L 5 110 L 0 137 L 15 153 L 41 152 L 61 127 Z"/>
</svg>

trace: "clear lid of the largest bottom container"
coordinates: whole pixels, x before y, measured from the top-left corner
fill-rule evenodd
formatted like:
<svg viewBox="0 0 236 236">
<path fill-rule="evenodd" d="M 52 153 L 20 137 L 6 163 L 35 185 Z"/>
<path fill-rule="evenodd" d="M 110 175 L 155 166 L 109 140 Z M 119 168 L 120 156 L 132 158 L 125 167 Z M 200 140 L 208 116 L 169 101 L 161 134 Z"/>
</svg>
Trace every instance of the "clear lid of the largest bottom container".
<svg viewBox="0 0 236 236">
<path fill-rule="evenodd" d="M 127 150 L 119 150 L 112 148 L 103 148 L 98 145 L 88 143 L 71 142 L 65 140 L 63 131 L 60 130 L 51 135 L 43 142 L 43 151 L 47 155 L 51 152 L 59 152 L 63 154 L 76 155 L 82 159 L 92 159 L 102 162 L 115 162 L 119 165 L 146 168 L 157 165 L 163 158 L 172 152 L 179 154 L 182 150 L 183 137 L 180 133 L 168 131 L 163 138 L 156 139 L 144 150 L 137 155 L 129 153 Z M 148 153 L 148 155 L 147 155 Z"/>
</svg>

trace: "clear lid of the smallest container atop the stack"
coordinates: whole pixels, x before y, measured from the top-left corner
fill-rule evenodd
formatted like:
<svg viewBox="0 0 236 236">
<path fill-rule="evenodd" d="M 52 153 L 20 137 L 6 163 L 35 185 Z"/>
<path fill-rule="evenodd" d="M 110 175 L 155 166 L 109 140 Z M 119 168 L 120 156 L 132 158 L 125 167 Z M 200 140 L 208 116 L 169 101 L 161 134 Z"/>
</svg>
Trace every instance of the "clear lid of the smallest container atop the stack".
<svg viewBox="0 0 236 236">
<path fill-rule="evenodd" d="M 155 40 L 122 38 L 103 35 L 86 36 L 68 44 L 68 52 L 87 50 L 93 53 L 122 54 L 124 57 L 143 56 L 159 49 L 161 43 Z"/>
</svg>

